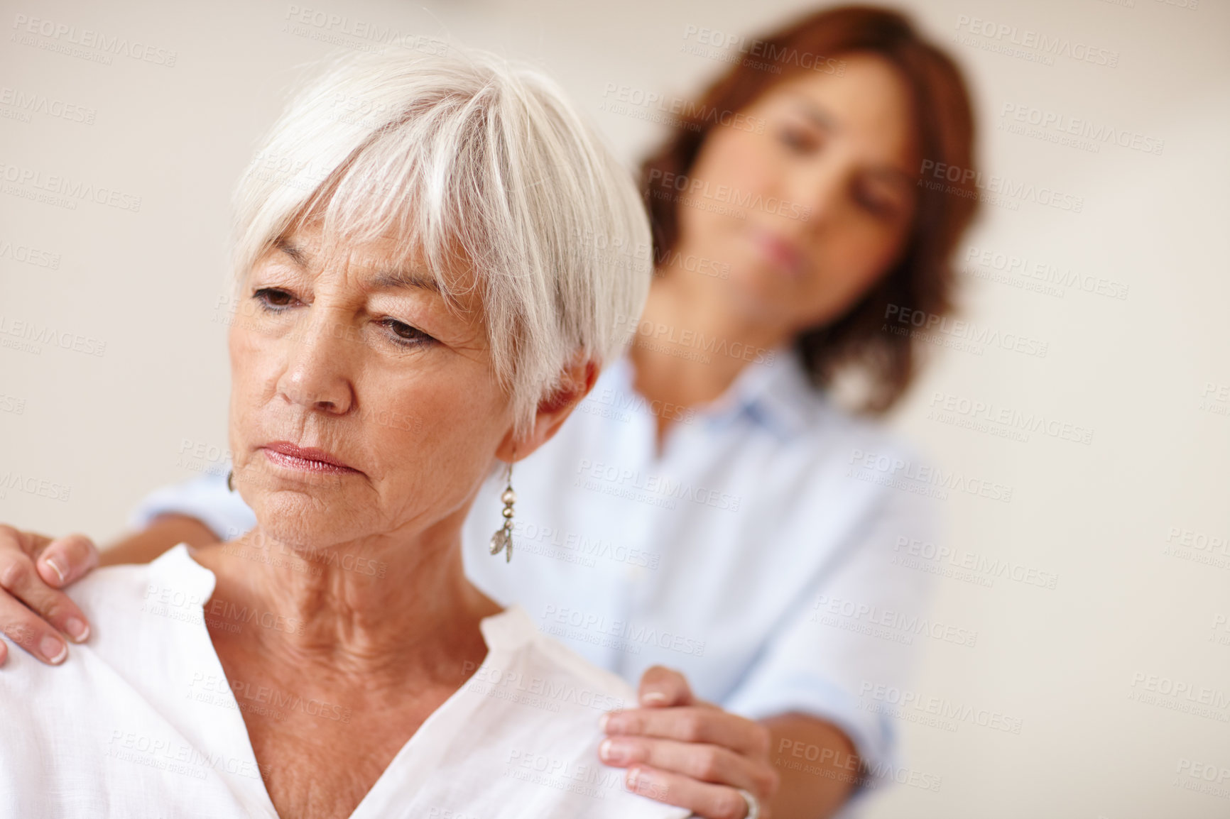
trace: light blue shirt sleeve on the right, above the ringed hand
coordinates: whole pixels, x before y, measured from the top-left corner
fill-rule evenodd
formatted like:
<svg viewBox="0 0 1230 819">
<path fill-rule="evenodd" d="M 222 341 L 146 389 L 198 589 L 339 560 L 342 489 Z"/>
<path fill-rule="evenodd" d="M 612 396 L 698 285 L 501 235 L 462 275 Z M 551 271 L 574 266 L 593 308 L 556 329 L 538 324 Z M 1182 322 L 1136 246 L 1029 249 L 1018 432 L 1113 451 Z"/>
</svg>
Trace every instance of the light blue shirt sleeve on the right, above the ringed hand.
<svg viewBox="0 0 1230 819">
<path fill-rule="evenodd" d="M 904 560 L 911 544 L 934 542 L 934 503 L 882 487 L 836 564 L 723 703 L 753 719 L 801 712 L 835 724 L 861 759 L 860 791 L 911 776 L 894 754 L 892 707 L 877 696 L 905 689 L 919 642 L 937 633 L 926 612 L 932 573 Z M 809 751 L 780 756 L 784 765 L 817 761 Z"/>
</svg>

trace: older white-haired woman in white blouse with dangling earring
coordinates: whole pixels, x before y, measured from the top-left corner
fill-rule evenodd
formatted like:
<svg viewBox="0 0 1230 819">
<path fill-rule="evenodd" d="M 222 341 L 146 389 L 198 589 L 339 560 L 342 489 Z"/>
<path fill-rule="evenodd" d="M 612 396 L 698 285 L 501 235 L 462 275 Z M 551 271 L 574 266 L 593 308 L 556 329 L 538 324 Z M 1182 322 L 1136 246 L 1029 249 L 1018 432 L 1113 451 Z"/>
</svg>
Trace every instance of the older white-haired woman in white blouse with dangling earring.
<svg viewBox="0 0 1230 819">
<path fill-rule="evenodd" d="M 648 259 L 584 241 L 648 241 L 632 181 L 550 82 L 483 55 L 336 65 L 260 156 L 229 336 L 257 526 L 73 588 L 93 639 L 0 676 L 0 813 L 686 815 L 597 762 L 627 684 L 460 555 L 485 478 L 641 309 Z"/>
</svg>

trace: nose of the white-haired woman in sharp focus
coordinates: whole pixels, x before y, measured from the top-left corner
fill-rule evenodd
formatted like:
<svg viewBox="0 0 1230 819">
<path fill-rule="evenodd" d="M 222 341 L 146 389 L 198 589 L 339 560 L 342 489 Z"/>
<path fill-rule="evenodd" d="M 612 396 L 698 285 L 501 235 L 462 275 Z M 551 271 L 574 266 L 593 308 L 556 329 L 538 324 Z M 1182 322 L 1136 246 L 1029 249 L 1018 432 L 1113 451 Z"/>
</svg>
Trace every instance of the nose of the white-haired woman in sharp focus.
<svg viewBox="0 0 1230 819">
<path fill-rule="evenodd" d="M 355 343 L 348 325 L 322 316 L 303 333 L 287 339 L 287 365 L 278 391 L 292 403 L 330 413 L 344 413 L 354 402 L 351 380 Z"/>
</svg>

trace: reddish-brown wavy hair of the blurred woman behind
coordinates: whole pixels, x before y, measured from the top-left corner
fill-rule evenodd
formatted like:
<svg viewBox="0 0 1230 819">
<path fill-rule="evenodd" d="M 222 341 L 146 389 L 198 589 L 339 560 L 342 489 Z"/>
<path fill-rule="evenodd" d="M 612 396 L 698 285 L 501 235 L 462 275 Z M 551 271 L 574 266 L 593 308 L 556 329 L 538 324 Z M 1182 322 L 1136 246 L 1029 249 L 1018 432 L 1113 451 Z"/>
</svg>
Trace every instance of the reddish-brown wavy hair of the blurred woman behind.
<svg viewBox="0 0 1230 819">
<path fill-rule="evenodd" d="M 756 57 L 740 60 L 713 82 L 692 106 L 695 113 L 676 119 L 665 143 L 641 166 L 656 259 L 665 258 L 679 239 L 678 198 L 669 181 L 672 175 L 689 172 L 716 127 L 716 118 L 706 118 L 705 112 L 739 112 L 803 73 L 840 73 L 841 63 L 835 58 L 844 54 L 872 54 L 898 69 L 909 87 L 915 144 L 922 157 L 936 165 L 974 168 L 973 106 L 961 70 L 904 15 L 875 6 L 841 6 L 807 15 L 753 42 Z M 934 315 L 952 310 L 951 256 L 977 209 L 977 191 L 968 182 L 946 181 L 938 189 L 920 184 L 918 194 L 900 261 L 845 315 L 795 338 L 817 387 L 829 385 L 845 368 L 862 370 L 870 389 L 861 410 L 867 413 L 892 407 L 919 369 L 921 342 L 882 330 L 888 305 Z"/>
</svg>

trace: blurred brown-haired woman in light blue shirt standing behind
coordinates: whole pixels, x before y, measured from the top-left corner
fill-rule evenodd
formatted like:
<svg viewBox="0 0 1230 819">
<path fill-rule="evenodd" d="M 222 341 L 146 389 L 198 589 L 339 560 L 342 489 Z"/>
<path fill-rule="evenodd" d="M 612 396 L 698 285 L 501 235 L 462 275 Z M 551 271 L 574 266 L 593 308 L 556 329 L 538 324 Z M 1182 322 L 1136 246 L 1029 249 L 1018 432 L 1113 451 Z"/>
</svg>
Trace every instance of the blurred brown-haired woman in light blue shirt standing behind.
<svg viewBox="0 0 1230 819">
<path fill-rule="evenodd" d="M 900 317 L 951 307 L 974 192 L 920 168 L 973 167 L 973 114 L 958 69 L 897 12 L 819 11 L 739 48 L 643 165 L 656 279 L 619 317 L 626 357 L 517 465 L 517 561 L 486 556 L 506 483 L 485 487 L 466 573 L 640 679 L 641 707 L 601 723 L 630 788 L 715 819 L 825 817 L 881 782 L 937 785 L 895 761 L 875 707 L 932 625 L 927 574 L 900 556 L 934 539 L 935 487 L 834 395 L 888 410 L 919 364 Z M 107 562 L 252 516 L 212 476 L 137 520 Z M 58 589 L 96 551 L 12 530 L 0 548 L 0 626 L 63 662 L 54 628 L 84 622 Z"/>
</svg>

